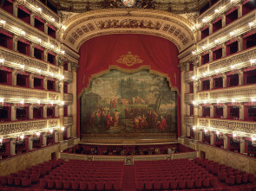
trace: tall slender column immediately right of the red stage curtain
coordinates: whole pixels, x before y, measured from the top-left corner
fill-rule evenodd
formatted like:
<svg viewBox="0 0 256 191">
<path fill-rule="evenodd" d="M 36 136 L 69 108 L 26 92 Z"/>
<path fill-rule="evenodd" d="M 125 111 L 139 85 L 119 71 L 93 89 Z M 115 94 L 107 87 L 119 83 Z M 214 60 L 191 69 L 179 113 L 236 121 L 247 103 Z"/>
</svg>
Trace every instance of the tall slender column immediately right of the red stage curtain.
<svg viewBox="0 0 256 191">
<path fill-rule="evenodd" d="M 185 124 L 185 116 L 186 116 L 186 104 L 185 104 L 185 73 L 186 67 L 181 67 L 181 136 L 186 136 L 186 124 Z"/>
</svg>

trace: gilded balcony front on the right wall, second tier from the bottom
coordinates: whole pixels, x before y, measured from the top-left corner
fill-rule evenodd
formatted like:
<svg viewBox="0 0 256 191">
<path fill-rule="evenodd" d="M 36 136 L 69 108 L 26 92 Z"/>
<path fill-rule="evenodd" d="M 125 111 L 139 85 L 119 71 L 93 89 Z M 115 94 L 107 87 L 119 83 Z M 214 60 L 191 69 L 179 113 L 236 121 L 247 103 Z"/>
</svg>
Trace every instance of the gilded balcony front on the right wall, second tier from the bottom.
<svg viewBox="0 0 256 191">
<path fill-rule="evenodd" d="M 250 102 L 252 97 L 256 95 L 256 86 L 246 85 L 246 86 L 233 86 L 225 87 L 220 89 L 208 90 L 203 92 L 198 92 L 199 103 L 203 103 L 204 99 L 207 99 L 208 103 L 216 103 L 216 99 L 221 99 L 223 102 L 230 99 L 236 99 L 239 102 Z"/>
</svg>

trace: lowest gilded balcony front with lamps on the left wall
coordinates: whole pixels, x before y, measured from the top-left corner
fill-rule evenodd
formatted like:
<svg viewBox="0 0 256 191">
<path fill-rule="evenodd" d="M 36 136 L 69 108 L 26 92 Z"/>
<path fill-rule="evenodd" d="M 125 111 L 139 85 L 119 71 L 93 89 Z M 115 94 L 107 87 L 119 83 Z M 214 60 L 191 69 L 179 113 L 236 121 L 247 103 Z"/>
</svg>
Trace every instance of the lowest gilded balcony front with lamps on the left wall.
<svg viewBox="0 0 256 191">
<path fill-rule="evenodd" d="M 60 118 L 13 121 L 0 124 L 0 135 L 4 136 L 4 138 L 15 137 L 17 133 L 22 132 L 27 132 L 26 135 L 30 133 L 32 135 L 35 131 L 49 131 L 49 128 L 59 128 L 59 126 Z"/>
</svg>

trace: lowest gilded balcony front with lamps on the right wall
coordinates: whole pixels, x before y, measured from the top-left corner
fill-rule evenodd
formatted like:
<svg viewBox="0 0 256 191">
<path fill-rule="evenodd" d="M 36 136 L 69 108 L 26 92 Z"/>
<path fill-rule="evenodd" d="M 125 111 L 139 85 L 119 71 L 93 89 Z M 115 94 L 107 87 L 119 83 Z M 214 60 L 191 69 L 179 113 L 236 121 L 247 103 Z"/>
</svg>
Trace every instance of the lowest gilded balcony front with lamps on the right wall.
<svg viewBox="0 0 256 191">
<path fill-rule="evenodd" d="M 222 130 L 223 133 L 231 133 L 232 131 L 240 131 L 244 133 L 255 134 L 256 122 L 248 122 L 242 120 L 224 119 L 224 118 L 197 118 L 197 125 L 204 129 Z"/>
</svg>

